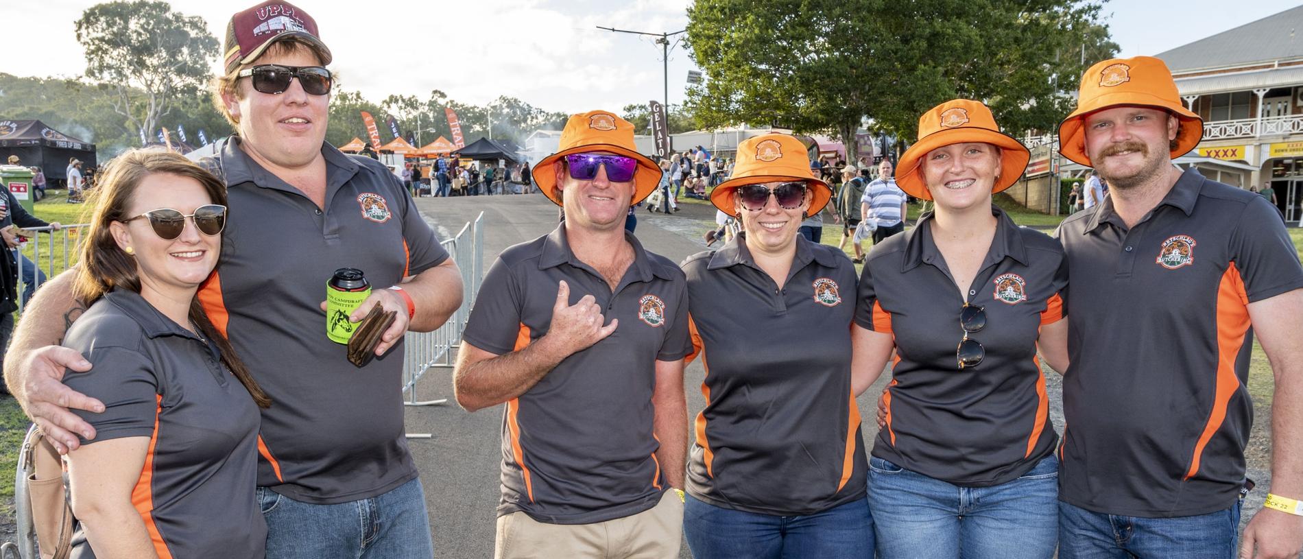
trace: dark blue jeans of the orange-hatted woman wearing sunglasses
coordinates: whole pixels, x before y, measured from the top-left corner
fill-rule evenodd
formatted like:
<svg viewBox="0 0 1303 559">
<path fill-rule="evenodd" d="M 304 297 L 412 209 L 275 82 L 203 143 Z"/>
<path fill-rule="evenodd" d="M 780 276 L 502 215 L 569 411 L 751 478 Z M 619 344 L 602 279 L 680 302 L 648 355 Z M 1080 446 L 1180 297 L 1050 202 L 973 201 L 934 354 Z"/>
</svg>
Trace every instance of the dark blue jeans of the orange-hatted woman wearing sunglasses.
<svg viewBox="0 0 1303 559">
<path fill-rule="evenodd" d="M 683 534 L 697 559 L 873 556 L 873 517 L 865 499 L 813 515 L 771 516 L 715 507 L 688 495 Z"/>
</svg>

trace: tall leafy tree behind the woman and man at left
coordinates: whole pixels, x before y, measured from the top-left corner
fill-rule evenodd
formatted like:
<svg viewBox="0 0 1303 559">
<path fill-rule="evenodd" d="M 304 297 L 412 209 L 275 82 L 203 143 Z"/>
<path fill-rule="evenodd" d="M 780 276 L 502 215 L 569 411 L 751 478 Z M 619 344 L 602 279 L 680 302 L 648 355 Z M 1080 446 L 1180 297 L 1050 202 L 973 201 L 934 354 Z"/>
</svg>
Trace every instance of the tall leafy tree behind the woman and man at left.
<svg viewBox="0 0 1303 559">
<path fill-rule="evenodd" d="M 113 112 L 137 137 L 152 137 L 179 96 L 205 86 L 218 55 L 203 18 L 173 12 L 165 1 L 96 4 L 76 29 L 86 50 L 86 77 L 109 85 Z"/>
</svg>

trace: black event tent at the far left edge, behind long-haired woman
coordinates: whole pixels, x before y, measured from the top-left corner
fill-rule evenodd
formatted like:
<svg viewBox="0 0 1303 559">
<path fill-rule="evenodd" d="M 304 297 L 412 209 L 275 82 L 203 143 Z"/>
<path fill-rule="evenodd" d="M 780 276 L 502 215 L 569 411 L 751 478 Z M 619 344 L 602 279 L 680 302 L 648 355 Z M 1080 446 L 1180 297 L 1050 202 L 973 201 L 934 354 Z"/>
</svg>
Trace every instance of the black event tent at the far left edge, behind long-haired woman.
<svg viewBox="0 0 1303 559">
<path fill-rule="evenodd" d="M 0 163 L 17 155 L 25 167 L 40 167 L 50 186 L 68 179 L 68 159 L 82 160 L 82 169 L 96 167 L 95 145 L 66 136 L 39 120 L 0 120 Z"/>
</svg>

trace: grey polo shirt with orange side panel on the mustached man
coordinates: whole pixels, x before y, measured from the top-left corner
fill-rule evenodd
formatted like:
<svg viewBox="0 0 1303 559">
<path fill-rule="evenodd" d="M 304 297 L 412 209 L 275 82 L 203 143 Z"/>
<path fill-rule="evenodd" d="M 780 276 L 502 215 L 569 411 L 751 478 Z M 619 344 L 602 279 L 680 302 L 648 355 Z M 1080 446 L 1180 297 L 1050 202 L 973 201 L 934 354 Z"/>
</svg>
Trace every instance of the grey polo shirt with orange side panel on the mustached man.
<svg viewBox="0 0 1303 559">
<path fill-rule="evenodd" d="M 1143 517 L 1234 506 L 1253 421 L 1247 305 L 1303 288 L 1280 211 L 1186 171 L 1135 227 L 1109 197 L 1058 237 L 1072 270 L 1059 499 Z"/>
</svg>

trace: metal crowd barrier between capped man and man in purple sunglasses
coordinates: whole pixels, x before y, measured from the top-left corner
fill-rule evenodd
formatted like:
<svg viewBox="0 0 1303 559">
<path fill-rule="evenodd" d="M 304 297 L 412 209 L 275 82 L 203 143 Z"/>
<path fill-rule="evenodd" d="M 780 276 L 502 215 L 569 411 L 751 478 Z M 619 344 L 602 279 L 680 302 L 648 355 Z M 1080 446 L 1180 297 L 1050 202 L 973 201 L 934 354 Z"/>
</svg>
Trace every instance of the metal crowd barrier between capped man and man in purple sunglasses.
<svg viewBox="0 0 1303 559">
<path fill-rule="evenodd" d="M 470 318 L 470 304 L 480 293 L 480 278 L 483 276 L 483 225 L 485 214 L 480 212 L 474 222 L 468 222 L 452 238 L 442 242 L 452 261 L 461 270 L 461 306 L 443 326 L 433 332 L 408 332 L 404 339 L 403 392 L 405 405 L 437 405 L 448 399 L 418 400 L 416 383 L 431 367 L 451 367 L 452 352 L 461 344 L 461 332 Z"/>
</svg>

